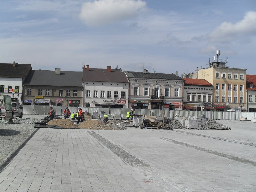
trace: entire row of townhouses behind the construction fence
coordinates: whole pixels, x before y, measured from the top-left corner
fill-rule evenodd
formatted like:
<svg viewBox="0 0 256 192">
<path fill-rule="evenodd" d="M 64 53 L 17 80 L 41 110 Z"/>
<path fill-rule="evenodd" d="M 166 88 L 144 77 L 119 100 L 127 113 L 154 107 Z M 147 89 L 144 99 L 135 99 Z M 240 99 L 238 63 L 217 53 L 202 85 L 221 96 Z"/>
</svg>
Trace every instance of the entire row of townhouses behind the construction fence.
<svg viewBox="0 0 256 192">
<path fill-rule="evenodd" d="M 30 64 L 14 62 L 0 64 L 0 93 L 23 105 L 254 112 L 255 76 L 217 62 L 181 77 L 177 72 L 122 72 L 111 66 L 87 65 L 82 72 L 32 70 Z"/>
</svg>

